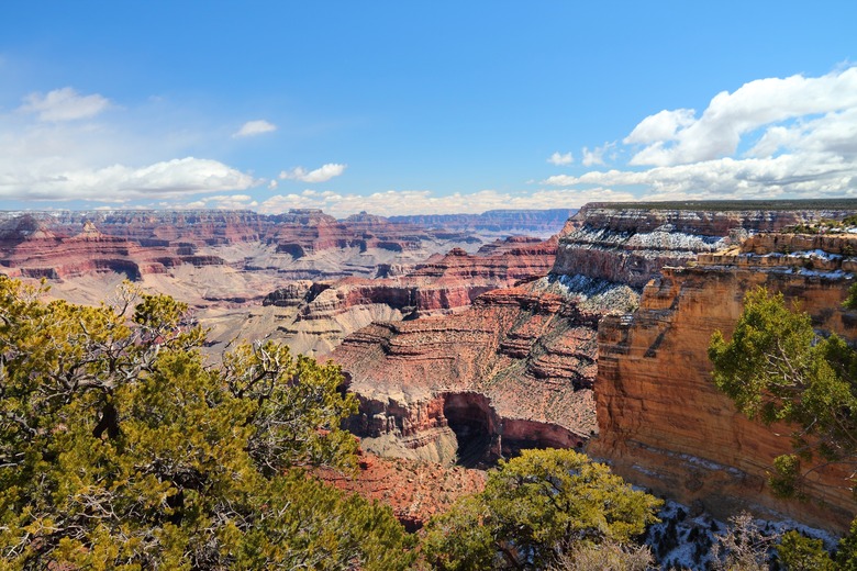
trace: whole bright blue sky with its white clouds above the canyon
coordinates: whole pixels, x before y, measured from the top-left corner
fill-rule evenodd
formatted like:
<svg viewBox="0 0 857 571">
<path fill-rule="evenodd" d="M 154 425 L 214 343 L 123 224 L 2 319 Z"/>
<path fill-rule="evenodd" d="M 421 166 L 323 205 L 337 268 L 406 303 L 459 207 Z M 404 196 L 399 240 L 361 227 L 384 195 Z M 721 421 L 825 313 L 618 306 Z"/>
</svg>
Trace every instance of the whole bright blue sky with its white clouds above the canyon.
<svg viewBox="0 0 857 571">
<path fill-rule="evenodd" d="M 8 1 L 0 209 L 857 194 L 857 2 Z"/>
</svg>

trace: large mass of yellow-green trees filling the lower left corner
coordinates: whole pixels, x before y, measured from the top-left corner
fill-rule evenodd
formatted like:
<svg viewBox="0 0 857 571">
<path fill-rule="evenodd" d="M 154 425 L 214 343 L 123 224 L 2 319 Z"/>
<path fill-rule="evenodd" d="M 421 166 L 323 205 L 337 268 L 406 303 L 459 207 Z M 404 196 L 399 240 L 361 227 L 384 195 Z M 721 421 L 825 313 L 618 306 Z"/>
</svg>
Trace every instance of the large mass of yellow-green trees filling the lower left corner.
<svg viewBox="0 0 857 571">
<path fill-rule="evenodd" d="M 389 508 L 300 470 L 354 462 L 335 366 L 254 344 L 208 367 L 170 298 L 42 292 L 0 277 L 0 568 L 409 564 Z"/>
</svg>

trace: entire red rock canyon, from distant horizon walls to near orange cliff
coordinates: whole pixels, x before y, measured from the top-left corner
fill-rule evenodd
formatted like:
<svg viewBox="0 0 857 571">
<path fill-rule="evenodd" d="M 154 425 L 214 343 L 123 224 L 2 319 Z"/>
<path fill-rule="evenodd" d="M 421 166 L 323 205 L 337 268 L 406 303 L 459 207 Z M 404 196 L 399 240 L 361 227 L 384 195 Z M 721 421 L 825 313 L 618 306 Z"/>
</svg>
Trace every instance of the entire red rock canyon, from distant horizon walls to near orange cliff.
<svg viewBox="0 0 857 571">
<path fill-rule="evenodd" d="M 482 470 L 572 448 L 715 517 L 749 510 L 843 533 L 857 510 L 841 466 L 803 500 L 771 494 L 788 430 L 747 419 L 711 381 L 755 286 L 857 340 L 842 307 L 857 201 L 590 203 L 579 211 L 336 220 L 319 211 L 3 214 L 0 271 L 47 295 L 109 300 L 122 280 L 190 304 L 215 359 L 275 339 L 342 366 L 359 411 L 356 480 L 419 528 Z"/>
</svg>

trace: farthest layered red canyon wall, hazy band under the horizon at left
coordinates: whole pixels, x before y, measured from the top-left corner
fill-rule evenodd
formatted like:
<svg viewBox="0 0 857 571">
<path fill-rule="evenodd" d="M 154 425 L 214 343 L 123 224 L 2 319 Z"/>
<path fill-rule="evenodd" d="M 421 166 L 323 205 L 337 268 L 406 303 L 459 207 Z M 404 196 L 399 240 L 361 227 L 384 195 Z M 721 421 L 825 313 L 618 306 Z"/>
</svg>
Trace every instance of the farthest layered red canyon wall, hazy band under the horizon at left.
<svg viewBox="0 0 857 571">
<path fill-rule="evenodd" d="M 88 247 L 80 247 L 81 236 L 90 238 Z M 229 265 L 243 272 L 277 273 L 281 280 L 370 278 L 453 247 L 475 250 L 480 244 L 474 233 L 429 231 L 368 214 L 337 221 L 307 210 L 277 216 L 229 211 L 0 213 L 0 265 L 21 276 L 54 279 L 111 268 L 137 279 L 181 264 Z"/>
</svg>

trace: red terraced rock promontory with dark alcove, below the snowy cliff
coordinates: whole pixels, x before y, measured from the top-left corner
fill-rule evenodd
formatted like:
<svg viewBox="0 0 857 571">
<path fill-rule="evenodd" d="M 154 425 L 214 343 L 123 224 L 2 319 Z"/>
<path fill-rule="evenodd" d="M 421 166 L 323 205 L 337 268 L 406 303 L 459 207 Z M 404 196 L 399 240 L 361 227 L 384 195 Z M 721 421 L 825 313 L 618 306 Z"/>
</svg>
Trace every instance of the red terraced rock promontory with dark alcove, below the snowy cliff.
<svg viewBox="0 0 857 571">
<path fill-rule="evenodd" d="M 459 461 L 478 463 L 521 447 L 581 446 L 596 429 L 599 318 L 543 279 L 452 315 L 372 324 L 331 357 L 360 401 L 353 428 L 365 446 L 449 461 L 454 434 Z"/>
</svg>

